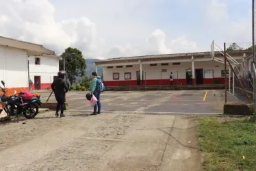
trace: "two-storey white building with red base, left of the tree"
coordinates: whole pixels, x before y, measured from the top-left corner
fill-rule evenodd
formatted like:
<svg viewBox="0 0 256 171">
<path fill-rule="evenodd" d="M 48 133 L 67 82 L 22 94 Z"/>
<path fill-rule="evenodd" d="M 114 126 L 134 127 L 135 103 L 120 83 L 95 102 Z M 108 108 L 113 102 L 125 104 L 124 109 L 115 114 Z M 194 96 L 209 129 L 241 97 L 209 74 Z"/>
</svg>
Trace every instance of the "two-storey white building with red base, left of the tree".
<svg viewBox="0 0 256 171">
<path fill-rule="evenodd" d="M 29 56 L 29 79 L 33 82 L 32 90 L 49 90 L 59 71 L 57 55 Z"/>
</svg>

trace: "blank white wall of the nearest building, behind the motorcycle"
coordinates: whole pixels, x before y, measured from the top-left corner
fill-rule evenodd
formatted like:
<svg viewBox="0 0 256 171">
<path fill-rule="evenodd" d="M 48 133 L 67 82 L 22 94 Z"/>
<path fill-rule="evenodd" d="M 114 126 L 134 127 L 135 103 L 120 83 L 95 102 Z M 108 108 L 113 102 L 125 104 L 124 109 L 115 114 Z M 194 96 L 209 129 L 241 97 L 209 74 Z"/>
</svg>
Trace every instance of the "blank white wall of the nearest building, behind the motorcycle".
<svg viewBox="0 0 256 171">
<path fill-rule="evenodd" d="M 0 79 L 6 88 L 28 87 L 27 51 L 0 46 Z"/>
</svg>

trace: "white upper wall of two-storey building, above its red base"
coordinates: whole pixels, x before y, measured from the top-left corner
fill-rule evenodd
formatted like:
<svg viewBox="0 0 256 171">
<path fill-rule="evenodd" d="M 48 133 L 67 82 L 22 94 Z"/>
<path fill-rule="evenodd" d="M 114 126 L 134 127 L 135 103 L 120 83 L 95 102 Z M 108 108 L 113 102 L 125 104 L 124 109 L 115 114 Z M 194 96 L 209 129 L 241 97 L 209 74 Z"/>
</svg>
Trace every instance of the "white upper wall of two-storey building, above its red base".
<svg viewBox="0 0 256 171">
<path fill-rule="evenodd" d="M 40 64 L 36 65 L 36 57 L 40 58 Z M 35 83 L 34 76 L 41 77 L 41 83 L 52 83 L 53 76 L 57 76 L 59 71 L 59 60 L 57 57 L 49 56 L 29 56 L 29 76 Z"/>
</svg>

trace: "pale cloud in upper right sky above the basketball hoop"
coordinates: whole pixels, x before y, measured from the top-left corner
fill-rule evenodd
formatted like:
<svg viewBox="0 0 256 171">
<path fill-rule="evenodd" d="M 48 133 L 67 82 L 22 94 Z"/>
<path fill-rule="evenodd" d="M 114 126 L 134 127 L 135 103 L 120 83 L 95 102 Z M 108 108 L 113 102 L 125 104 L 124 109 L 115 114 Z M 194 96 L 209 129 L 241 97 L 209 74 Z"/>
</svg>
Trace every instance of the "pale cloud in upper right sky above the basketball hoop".
<svg viewBox="0 0 256 171">
<path fill-rule="evenodd" d="M 237 3 L 240 1 L 220 1 L 211 0 L 207 11 L 206 20 L 209 28 L 213 31 L 212 35 L 218 44 L 227 42 L 231 44 L 237 42 L 240 46 L 245 44 L 251 45 L 251 9 L 244 11 L 244 16 L 234 16 L 231 12 L 236 12 L 236 9 L 231 8 L 229 12 L 228 3 Z"/>
</svg>

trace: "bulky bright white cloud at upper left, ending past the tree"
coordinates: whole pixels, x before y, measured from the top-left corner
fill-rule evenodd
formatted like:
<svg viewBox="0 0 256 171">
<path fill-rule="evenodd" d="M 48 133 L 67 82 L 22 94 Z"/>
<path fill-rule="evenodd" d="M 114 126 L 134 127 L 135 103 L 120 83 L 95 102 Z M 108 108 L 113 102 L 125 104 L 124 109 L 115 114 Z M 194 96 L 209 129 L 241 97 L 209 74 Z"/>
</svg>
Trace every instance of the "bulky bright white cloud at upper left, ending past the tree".
<svg viewBox="0 0 256 171">
<path fill-rule="evenodd" d="M 76 47 L 84 57 L 97 57 L 101 39 L 94 23 L 86 17 L 56 22 L 55 7 L 48 0 L 0 0 L 0 34 L 43 44 L 56 53 Z"/>
</svg>

